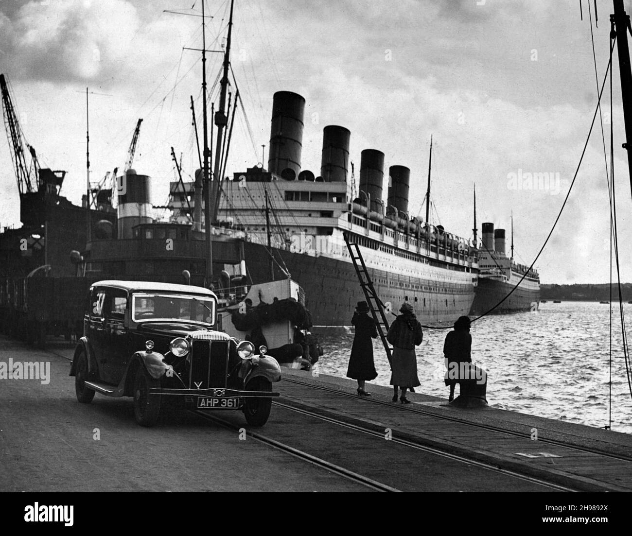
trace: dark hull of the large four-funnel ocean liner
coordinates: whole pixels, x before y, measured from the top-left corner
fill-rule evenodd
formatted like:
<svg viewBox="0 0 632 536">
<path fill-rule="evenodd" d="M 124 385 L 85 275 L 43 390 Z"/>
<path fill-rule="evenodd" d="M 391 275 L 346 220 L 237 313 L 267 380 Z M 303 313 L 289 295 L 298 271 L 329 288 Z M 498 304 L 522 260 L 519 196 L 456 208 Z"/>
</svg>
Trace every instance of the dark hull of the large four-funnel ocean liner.
<svg viewBox="0 0 632 536">
<path fill-rule="evenodd" d="M 270 262 L 267 250 L 255 243 L 244 243 L 248 259 L 248 274 L 253 283 L 270 281 Z M 262 253 L 262 250 L 264 253 Z M 287 267 L 292 279 L 305 291 L 305 307 L 312 314 L 314 326 L 350 326 L 358 301 L 365 300 L 353 264 L 348 260 L 292 253 L 272 248 L 274 258 Z M 281 262 L 281 259 L 283 262 Z M 286 277 L 275 264 L 274 279 Z M 422 324 L 454 322 L 470 312 L 474 300 L 471 274 L 461 274 L 458 281 L 451 279 L 454 272 L 444 270 L 439 278 L 404 276 L 367 266 L 380 300 L 390 302 L 392 311 L 409 301 Z M 466 283 L 465 277 L 468 279 Z M 424 289 L 426 288 L 426 289 Z M 389 315 L 389 319 L 394 316 Z"/>
</svg>

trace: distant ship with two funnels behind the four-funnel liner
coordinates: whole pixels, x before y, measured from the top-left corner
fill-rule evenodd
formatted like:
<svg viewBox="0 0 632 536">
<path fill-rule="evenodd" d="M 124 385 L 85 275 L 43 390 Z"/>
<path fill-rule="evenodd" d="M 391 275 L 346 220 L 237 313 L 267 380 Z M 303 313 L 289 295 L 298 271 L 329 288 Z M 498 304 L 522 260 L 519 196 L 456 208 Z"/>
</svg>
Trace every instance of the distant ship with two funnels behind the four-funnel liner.
<svg viewBox="0 0 632 536">
<path fill-rule="evenodd" d="M 540 305 L 540 276 L 505 253 L 505 229 L 482 225 L 483 243 L 478 252 L 478 285 L 470 314 L 482 315 L 535 311 Z M 516 285 L 518 285 L 516 287 Z M 515 290 L 512 289 L 516 287 Z"/>
</svg>

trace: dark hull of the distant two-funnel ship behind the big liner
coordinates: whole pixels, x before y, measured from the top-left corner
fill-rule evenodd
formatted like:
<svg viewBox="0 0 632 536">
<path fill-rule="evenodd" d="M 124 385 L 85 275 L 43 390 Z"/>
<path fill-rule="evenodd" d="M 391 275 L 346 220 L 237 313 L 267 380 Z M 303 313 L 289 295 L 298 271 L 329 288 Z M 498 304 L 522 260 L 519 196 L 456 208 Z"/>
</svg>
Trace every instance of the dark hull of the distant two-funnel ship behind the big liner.
<svg viewBox="0 0 632 536">
<path fill-rule="evenodd" d="M 513 284 L 478 277 L 475 298 L 470 310 L 471 315 L 482 315 L 511 292 Z M 490 314 L 516 313 L 521 311 L 538 310 L 540 304 L 540 288 L 525 288 L 518 286 L 511 295 L 496 307 Z"/>
</svg>

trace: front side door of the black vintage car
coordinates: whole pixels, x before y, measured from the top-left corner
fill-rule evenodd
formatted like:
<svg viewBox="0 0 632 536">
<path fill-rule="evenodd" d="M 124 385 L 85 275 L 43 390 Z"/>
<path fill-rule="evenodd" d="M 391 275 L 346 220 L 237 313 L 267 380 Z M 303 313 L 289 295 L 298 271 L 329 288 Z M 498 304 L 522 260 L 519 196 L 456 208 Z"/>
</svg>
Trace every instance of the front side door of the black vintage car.
<svg viewBox="0 0 632 536">
<path fill-rule="evenodd" d="M 104 302 L 104 381 L 118 385 L 128 362 L 129 332 L 125 327 L 128 296 L 123 289 L 107 289 Z"/>
</svg>

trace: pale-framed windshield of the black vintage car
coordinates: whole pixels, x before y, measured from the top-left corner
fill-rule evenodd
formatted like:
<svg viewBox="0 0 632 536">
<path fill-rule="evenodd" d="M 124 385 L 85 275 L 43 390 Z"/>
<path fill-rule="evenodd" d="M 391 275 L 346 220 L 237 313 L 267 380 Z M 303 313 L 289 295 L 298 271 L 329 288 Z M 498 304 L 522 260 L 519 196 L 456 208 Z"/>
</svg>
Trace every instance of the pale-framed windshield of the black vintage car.
<svg viewBox="0 0 632 536">
<path fill-rule="evenodd" d="M 186 320 L 215 323 L 215 300 L 211 296 L 142 293 L 133 295 L 131 307 L 134 322 Z"/>
</svg>

